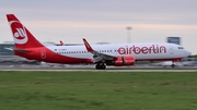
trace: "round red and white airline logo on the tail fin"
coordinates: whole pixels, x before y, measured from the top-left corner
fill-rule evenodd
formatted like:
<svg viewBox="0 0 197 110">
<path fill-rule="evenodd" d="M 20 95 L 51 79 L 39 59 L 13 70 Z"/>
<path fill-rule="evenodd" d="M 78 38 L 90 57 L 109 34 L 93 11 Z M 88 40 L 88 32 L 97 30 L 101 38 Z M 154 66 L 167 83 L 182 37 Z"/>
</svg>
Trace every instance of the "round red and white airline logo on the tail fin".
<svg viewBox="0 0 197 110">
<path fill-rule="evenodd" d="M 13 32 L 14 42 L 20 45 L 26 44 L 28 38 L 25 27 L 18 21 L 11 21 L 10 26 Z"/>
</svg>

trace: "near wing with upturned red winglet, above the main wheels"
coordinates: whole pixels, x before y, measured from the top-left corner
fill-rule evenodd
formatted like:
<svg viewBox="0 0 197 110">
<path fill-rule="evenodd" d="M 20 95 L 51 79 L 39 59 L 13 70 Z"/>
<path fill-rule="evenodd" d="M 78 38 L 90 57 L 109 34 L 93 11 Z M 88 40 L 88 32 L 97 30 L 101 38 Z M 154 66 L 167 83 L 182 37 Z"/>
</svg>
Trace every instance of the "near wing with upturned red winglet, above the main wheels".
<svg viewBox="0 0 197 110">
<path fill-rule="evenodd" d="M 83 38 L 83 42 L 85 45 L 86 50 L 93 54 L 93 62 L 101 62 L 101 61 L 105 61 L 105 60 L 114 60 L 116 58 L 114 56 L 101 53 L 101 52 L 93 50 L 92 47 L 89 45 L 89 42 L 84 38 Z"/>
</svg>

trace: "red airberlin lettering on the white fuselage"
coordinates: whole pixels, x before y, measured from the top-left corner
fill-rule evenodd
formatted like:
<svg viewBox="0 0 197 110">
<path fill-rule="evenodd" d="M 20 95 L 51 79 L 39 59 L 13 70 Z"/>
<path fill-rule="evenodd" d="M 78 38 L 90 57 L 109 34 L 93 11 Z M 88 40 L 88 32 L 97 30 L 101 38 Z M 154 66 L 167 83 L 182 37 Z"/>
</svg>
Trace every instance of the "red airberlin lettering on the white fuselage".
<svg viewBox="0 0 197 110">
<path fill-rule="evenodd" d="M 158 45 L 152 45 L 152 46 L 143 46 L 143 47 L 138 47 L 138 46 L 131 46 L 131 47 L 120 47 L 118 48 L 117 52 L 119 54 L 147 54 L 147 53 L 166 53 L 166 47 L 165 46 L 158 46 Z"/>
</svg>

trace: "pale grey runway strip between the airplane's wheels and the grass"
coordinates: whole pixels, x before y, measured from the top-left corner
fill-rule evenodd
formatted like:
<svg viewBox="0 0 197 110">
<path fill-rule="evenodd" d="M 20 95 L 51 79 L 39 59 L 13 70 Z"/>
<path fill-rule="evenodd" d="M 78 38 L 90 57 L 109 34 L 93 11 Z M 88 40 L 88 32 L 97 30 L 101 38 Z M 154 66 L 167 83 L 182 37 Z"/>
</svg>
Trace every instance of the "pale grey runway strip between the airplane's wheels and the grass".
<svg viewBox="0 0 197 110">
<path fill-rule="evenodd" d="M 197 69 L 106 69 L 95 70 L 73 68 L 0 68 L 0 71 L 43 71 L 43 72 L 197 72 Z"/>
</svg>

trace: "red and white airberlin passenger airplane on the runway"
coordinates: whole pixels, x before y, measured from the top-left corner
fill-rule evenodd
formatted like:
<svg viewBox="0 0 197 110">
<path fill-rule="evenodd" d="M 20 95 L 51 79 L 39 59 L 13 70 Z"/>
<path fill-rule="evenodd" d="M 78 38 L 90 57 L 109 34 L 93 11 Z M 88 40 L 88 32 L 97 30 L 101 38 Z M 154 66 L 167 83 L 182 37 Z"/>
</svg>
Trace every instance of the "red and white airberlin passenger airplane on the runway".
<svg viewBox="0 0 197 110">
<path fill-rule="evenodd" d="M 130 66 L 138 61 L 173 61 L 174 68 L 175 62 L 192 53 L 179 45 L 167 42 L 90 45 L 83 38 L 84 45 L 79 46 L 45 45 L 14 14 L 7 14 L 7 19 L 15 45 L 12 51 L 28 60 L 62 64 L 92 63 L 96 70 L 105 70 L 106 65 Z"/>
</svg>

